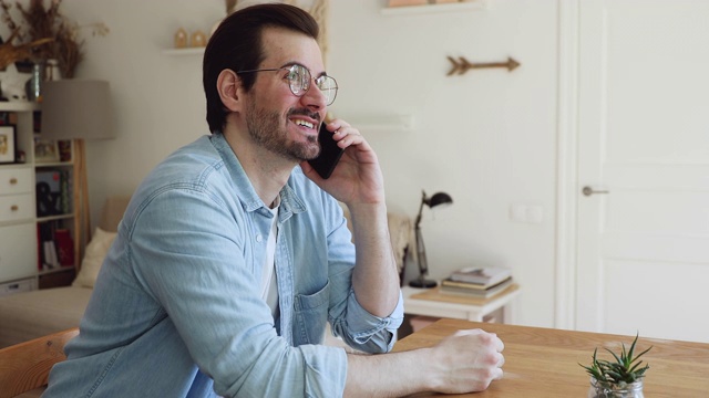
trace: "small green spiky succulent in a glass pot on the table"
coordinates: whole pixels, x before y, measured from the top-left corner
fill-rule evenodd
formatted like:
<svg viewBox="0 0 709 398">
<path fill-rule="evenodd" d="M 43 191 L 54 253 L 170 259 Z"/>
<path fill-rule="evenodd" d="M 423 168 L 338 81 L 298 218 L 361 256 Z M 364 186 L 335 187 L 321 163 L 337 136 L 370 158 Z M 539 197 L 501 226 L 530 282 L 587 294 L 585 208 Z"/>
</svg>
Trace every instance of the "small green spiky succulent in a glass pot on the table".
<svg viewBox="0 0 709 398">
<path fill-rule="evenodd" d="M 590 366 L 580 365 L 590 376 L 590 387 L 588 389 L 588 398 L 643 398 L 643 379 L 645 373 L 650 368 L 649 365 L 643 365 L 639 360 L 650 348 L 635 355 L 635 346 L 638 336 L 635 336 L 630 348 L 626 350 L 625 344 L 621 344 L 620 354 L 616 354 L 606 348 L 612 360 L 599 359 L 597 357 L 598 348 L 594 350 Z"/>
</svg>

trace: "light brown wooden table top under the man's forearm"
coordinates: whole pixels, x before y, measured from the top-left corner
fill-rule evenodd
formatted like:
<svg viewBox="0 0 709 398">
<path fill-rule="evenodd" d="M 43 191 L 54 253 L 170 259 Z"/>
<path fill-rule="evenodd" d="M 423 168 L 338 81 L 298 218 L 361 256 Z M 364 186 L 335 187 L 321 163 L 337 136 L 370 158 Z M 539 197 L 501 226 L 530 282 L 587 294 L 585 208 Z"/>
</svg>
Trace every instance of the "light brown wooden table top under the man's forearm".
<svg viewBox="0 0 709 398">
<path fill-rule="evenodd" d="M 444 318 L 402 338 L 394 350 L 430 347 L 465 328 L 482 328 L 500 336 L 505 344 L 505 376 L 483 392 L 446 397 L 586 397 L 589 376 L 578 363 L 589 364 L 596 347 L 602 358 L 607 354 L 604 347 L 618 352 L 625 343 L 629 348 L 635 337 Z M 649 346 L 653 349 L 641 358 L 650 365 L 645 378 L 646 397 L 709 397 L 709 344 L 640 336 L 636 349 Z M 429 395 L 415 395 L 420 396 Z"/>
</svg>

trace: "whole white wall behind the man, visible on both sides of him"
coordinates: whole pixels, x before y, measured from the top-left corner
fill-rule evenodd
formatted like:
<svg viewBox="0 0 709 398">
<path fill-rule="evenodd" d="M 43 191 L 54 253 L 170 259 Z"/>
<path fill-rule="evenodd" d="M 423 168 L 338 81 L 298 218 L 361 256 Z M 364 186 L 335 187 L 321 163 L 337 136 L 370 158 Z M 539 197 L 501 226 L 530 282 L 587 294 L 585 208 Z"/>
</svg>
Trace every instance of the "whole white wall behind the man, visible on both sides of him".
<svg viewBox="0 0 709 398">
<path fill-rule="evenodd" d="M 489 2 L 487 10 L 382 15 L 384 0 L 331 0 L 328 70 L 340 84 L 332 111 L 413 115 L 413 130 L 363 133 L 383 166 L 390 209 L 415 216 L 422 189 L 453 197 L 452 207 L 424 212 L 431 275 L 511 266 L 524 289 L 517 323 L 554 326 L 557 3 Z M 78 70 L 111 82 L 120 134 L 88 144 L 95 220 L 105 196 L 130 193 L 168 153 L 207 133 L 201 56 L 162 50 L 178 27 L 208 31 L 224 3 L 68 0 L 62 9 L 111 29 L 86 36 Z M 448 55 L 513 56 L 522 66 L 446 77 Z M 540 206 L 543 222 L 513 222 L 514 203 Z"/>
</svg>

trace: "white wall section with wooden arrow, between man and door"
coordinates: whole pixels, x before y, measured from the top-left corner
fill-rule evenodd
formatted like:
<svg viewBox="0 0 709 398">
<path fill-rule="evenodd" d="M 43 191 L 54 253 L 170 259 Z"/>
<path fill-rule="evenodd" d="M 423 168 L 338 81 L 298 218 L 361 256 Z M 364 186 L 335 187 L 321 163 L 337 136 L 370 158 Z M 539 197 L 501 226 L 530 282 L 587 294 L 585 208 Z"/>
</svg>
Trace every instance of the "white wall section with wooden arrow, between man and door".
<svg viewBox="0 0 709 398">
<path fill-rule="evenodd" d="M 453 197 L 450 208 L 424 210 L 431 275 L 511 266 L 524 287 L 517 322 L 552 326 L 556 2 L 491 0 L 489 10 L 415 15 L 382 15 L 382 3 L 331 9 L 328 69 L 342 87 L 333 112 L 414 115 L 413 132 L 367 136 L 391 208 L 414 216 L 422 189 Z M 513 56 L 522 66 L 449 77 L 448 55 Z M 513 203 L 541 206 L 544 221 L 512 222 Z"/>
</svg>

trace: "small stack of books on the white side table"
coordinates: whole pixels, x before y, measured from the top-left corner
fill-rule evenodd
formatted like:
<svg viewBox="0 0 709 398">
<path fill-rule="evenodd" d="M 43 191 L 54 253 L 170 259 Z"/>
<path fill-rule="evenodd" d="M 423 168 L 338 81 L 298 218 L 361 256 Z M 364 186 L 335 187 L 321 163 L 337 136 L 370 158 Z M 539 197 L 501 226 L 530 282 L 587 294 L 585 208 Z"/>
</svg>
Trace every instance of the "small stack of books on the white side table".
<svg viewBox="0 0 709 398">
<path fill-rule="evenodd" d="M 440 292 L 490 298 L 512 284 L 512 270 L 503 266 L 470 266 L 441 281 Z"/>
</svg>

